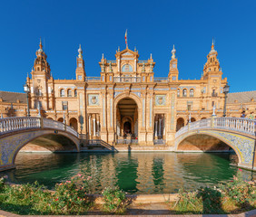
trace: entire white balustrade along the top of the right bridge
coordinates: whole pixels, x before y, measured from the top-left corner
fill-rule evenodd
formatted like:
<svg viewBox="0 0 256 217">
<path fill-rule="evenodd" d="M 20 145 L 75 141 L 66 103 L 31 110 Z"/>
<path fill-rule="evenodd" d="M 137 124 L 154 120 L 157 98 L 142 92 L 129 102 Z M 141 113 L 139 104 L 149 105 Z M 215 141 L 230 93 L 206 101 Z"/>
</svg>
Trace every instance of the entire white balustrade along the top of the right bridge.
<svg viewBox="0 0 256 217">
<path fill-rule="evenodd" d="M 226 129 L 236 132 L 241 132 L 244 134 L 255 136 L 256 130 L 256 120 L 248 119 L 248 118 L 207 118 L 199 121 L 195 121 L 189 123 L 185 127 L 182 127 L 175 135 L 175 137 L 179 137 L 182 134 L 202 128 L 219 128 Z"/>
</svg>

